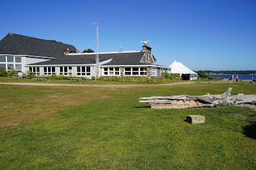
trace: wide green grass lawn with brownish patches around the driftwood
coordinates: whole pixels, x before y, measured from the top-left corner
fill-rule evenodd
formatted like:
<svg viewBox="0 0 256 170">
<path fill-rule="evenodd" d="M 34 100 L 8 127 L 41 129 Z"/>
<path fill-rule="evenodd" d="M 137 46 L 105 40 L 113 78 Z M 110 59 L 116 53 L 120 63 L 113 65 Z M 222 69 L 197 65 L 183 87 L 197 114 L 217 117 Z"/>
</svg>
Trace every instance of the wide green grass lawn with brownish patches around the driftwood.
<svg viewBox="0 0 256 170">
<path fill-rule="evenodd" d="M 138 100 L 228 87 L 256 94 L 250 83 L 0 85 L 0 169 L 256 169 L 256 111 L 152 110 Z M 187 115 L 204 115 L 205 124 L 188 124 Z"/>
</svg>

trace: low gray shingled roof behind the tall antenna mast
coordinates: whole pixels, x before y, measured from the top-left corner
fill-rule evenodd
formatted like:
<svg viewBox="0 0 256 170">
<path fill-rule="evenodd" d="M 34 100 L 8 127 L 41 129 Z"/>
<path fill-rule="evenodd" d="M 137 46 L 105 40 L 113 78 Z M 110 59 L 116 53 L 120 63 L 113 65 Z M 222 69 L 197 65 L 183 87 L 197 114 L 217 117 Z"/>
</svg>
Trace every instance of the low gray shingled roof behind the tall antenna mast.
<svg viewBox="0 0 256 170">
<path fill-rule="evenodd" d="M 100 62 L 112 59 L 111 62 L 102 66 L 124 66 L 124 65 L 148 65 L 140 62 L 144 52 L 120 52 L 120 53 L 100 53 Z M 58 59 L 45 62 L 38 62 L 31 65 L 61 65 L 61 64 L 95 64 L 95 54 L 91 55 L 66 55 Z"/>
</svg>

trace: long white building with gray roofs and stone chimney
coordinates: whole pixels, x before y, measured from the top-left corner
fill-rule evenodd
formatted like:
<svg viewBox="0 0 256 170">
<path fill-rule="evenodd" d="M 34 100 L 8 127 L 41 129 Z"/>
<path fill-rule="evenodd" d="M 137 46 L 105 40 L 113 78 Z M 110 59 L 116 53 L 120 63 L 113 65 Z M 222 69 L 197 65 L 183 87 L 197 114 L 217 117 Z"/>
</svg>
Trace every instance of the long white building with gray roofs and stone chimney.
<svg viewBox="0 0 256 170">
<path fill-rule="evenodd" d="M 79 53 L 72 45 L 9 33 L 0 41 L 0 67 L 19 74 L 63 74 L 96 77 L 96 53 Z M 99 53 L 100 76 L 161 76 L 170 67 L 158 66 L 151 47 L 141 51 Z"/>
</svg>

